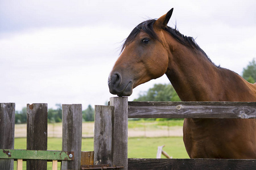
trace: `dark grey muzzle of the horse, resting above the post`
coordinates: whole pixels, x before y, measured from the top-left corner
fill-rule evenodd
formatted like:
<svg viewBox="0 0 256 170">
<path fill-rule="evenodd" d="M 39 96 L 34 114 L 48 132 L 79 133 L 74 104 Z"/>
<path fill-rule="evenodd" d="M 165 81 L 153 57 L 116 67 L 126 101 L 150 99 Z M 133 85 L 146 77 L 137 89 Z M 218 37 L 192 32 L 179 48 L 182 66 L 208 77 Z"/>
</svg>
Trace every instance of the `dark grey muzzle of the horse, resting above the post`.
<svg viewBox="0 0 256 170">
<path fill-rule="evenodd" d="M 109 75 L 108 85 L 109 92 L 113 95 L 122 97 L 133 94 L 133 82 L 122 79 L 121 74 L 117 72 Z"/>
</svg>

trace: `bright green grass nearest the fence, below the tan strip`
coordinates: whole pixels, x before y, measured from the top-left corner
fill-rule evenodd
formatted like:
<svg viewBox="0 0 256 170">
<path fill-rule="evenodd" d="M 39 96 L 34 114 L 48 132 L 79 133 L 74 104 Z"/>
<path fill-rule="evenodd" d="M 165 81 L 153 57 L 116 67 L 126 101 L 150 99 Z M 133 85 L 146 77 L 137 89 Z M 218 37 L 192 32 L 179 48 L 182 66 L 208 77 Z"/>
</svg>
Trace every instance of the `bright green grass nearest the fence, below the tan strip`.
<svg viewBox="0 0 256 170">
<path fill-rule="evenodd" d="M 26 149 L 26 140 L 26 138 L 15 138 L 14 148 Z M 61 145 L 61 138 L 48 138 L 48 150 L 61 150 Z M 163 150 L 172 158 L 189 158 L 182 137 L 129 138 L 128 158 L 156 158 L 158 146 L 163 145 L 165 145 Z M 82 139 L 82 151 L 93 151 L 93 138 Z M 16 169 L 16 162 L 14 162 L 14 169 Z M 26 169 L 26 162 L 23 162 L 23 169 Z M 48 162 L 47 169 L 52 169 L 51 162 Z M 58 169 L 60 169 L 60 163 L 58 163 Z"/>
</svg>

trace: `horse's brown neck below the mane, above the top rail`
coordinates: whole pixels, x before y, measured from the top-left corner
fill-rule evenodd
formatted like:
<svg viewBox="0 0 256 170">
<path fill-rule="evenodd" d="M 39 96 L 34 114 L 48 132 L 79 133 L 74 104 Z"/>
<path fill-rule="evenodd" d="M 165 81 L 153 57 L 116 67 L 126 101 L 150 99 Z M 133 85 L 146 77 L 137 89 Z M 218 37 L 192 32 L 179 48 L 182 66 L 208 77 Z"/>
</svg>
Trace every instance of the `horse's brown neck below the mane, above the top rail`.
<svg viewBox="0 0 256 170">
<path fill-rule="evenodd" d="M 225 74 L 200 50 L 177 45 L 169 57 L 166 75 L 182 101 L 230 101 Z M 230 79 L 230 81 L 233 81 Z M 221 93 L 222 96 L 219 94 Z M 229 99 L 230 98 L 230 99 Z"/>
</svg>

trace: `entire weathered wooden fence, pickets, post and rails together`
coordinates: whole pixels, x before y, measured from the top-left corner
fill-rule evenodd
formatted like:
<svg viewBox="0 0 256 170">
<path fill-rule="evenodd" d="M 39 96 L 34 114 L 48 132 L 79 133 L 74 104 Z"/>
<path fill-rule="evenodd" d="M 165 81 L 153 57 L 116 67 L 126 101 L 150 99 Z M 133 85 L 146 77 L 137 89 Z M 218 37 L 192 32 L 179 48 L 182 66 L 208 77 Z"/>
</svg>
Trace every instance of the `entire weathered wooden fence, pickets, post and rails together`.
<svg viewBox="0 0 256 170">
<path fill-rule="evenodd" d="M 21 159 L 27 159 L 27 169 L 46 169 L 47 160 L 53 160 L 53 163 L 61 161 L 61 169 L 256 167 L 256 160 L 252 159 L 127 158 L 128 118 L 256 118 L 256 103 L 128 102 L 127 97 L 112 97 L 109 106 L 95 106 L 94 152 L 81 152 L 81 112 L 81 104 L 63 105 L 63 151 L 46 151 L 46 155 L 40 157 L 38 150 L 47 150 L 47 104 L 28 104 L 27 150 L 21 152 L 35 152 L 27 153 L 28 156 L 19 156 L 19 150 L 13 150 L 15 104 L 0 104 L 0 169 L 13 169 L 13 159 L 18 159 L 18 163 L 22 162 Z M 52 155 L 61 155 L 60 152 L 64 152 L 66 157 L 52 158 Z"/>
</svg>

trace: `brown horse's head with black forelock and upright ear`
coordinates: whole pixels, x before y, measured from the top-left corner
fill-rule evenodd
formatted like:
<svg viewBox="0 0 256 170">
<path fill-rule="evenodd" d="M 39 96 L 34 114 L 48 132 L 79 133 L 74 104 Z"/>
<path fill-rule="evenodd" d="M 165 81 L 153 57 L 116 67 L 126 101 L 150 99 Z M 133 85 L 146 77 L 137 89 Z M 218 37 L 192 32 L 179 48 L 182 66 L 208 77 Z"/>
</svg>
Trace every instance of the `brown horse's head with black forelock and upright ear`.
<svg viewBox="0 0 256 170">
<path fill-rule="evenodd" d="M 170 48 L 163 31 L 172 11 L 173 8 L 158 20 L 147 20 L 137 25 L 127 37 L 109 75 L 108 85 L 112 94 L 130 96 L 139 84 L 166 73 Z"/>
</svg>

